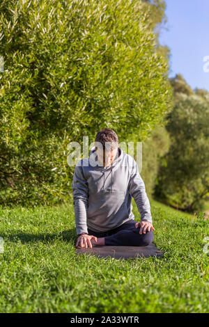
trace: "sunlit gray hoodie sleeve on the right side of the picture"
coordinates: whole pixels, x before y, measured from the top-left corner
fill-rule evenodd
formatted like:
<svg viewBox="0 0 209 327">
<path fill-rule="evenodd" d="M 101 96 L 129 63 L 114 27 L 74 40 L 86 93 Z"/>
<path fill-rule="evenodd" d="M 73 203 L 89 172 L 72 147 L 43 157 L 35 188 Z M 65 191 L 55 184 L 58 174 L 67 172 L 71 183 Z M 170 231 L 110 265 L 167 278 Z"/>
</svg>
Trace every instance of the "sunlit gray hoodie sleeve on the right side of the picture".
<svg viewBox="0 0 209 327">
<path fill-rule="evenodd" d="M 150 202 L 146 194 L 145 184 L 139 174 L 137 162 L 134 159 L 128 189 L 137 204 L 137 208 L 141 214 L 141 221 L 149 221 L 152 223 Z"/>
</svg>

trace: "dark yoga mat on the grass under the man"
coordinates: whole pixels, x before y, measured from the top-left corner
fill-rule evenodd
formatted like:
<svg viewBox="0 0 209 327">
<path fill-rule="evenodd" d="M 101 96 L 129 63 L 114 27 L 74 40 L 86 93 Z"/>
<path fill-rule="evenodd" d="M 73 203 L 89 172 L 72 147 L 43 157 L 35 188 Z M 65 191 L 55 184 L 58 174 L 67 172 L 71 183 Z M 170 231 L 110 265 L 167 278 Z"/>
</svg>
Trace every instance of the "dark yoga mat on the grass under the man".
<svg viewBox="0 0 209 327">
<path fill-rule="evenodd" d="M 88 253 L 99 257 L 129 259 L 130 257 L 162 257 L 163 253 L 155 244 L 149 246 L 94 246 L 93 248 L 76 248 L 77 255 Z"/>
</svg>

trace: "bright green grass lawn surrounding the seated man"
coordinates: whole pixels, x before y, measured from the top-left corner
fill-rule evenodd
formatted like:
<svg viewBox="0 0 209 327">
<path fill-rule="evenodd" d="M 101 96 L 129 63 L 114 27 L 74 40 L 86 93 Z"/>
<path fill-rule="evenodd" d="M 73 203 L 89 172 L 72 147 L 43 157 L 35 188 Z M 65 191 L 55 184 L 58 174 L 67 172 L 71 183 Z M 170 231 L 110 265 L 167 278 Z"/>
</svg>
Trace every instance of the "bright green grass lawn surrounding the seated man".
<svg viewBox="0 0 209 327">
<path fill-rule="evenodd" d="M 135 260 L 75 255 L 72 201 L 0 209 L 0 312 L 209 312 L 208 221 L 150 205 L 164 257 Z"/>
</svg>

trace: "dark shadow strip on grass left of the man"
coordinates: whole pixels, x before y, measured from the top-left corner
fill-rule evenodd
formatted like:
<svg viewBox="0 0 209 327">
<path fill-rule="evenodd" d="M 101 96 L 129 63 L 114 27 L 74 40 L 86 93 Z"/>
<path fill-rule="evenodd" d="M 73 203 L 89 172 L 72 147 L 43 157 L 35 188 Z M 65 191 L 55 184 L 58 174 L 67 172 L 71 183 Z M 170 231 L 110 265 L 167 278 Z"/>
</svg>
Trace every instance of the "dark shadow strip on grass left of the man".
<svg viewBox="0 0 209 327">
<path fill-rule="evenodd" d="M 61 241 L 73 241 L 73 242 L 77 240 L 77 234 L 75 228 L 72 228 L 71 230 L 64 230 L 63 232 L 57 234 L 49 234 L 49 233 L 29 234 L 20 231 L 10 235 L 1 233 L 0 236 L 3 237 L 5 241 L 10 241 L 15 243 L 21 241 L 22 244 L 34 243 L 38 241 L 42 241 L 43 243 L 50 243 L 58 239 Z"/>
</svg>

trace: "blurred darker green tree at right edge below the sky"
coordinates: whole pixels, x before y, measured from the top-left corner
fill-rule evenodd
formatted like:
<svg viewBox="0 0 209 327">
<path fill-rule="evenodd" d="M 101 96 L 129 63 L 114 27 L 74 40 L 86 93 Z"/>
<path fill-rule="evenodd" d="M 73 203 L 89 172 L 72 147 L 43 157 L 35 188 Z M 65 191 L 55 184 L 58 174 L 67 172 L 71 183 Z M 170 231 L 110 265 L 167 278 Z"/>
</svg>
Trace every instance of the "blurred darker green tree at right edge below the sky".
<svg viewBox="0 0 209 327">
<path fill-rule="evenodd" d="M 209 191 L 209 101 L 176 93 L 175 102 L 167 123 L 171 146 L 160 166 L 155 196 L 194 212 L 203 209 Z"/>
</svg>

